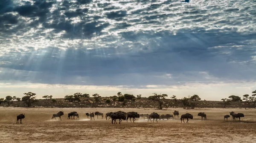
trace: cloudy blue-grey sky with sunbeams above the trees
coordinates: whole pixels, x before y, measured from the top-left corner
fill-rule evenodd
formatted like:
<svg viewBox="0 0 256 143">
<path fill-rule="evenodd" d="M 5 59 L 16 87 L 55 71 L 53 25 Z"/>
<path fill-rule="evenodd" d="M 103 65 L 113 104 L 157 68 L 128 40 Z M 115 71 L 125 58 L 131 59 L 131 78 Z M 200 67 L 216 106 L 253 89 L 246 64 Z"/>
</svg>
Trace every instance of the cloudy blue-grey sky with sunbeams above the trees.
<svg viewBox="0 0 256 143">
<path fill-rule="evenodd" d="M 0 0 L 0 98 L 254 90 L 255 0 Z"/>
</svg>

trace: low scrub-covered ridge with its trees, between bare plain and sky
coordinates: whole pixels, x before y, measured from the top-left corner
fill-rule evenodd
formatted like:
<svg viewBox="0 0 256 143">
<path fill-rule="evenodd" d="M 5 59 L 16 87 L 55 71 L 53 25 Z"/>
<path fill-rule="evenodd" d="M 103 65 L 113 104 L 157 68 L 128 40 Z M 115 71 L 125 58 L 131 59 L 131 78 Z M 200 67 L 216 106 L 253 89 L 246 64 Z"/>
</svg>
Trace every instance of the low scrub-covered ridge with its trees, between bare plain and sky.
<svg viewBox="0 0 256 143">
<path fill-rule="evenodd" d="M 201 101 L 199 95 L 192 95 L 177 99 L 175 95 L 172 95 L 170 99 L 167 99 L 167 94 L 157 94 L 148 98 L 139 95 L 122 94 L 118 92 L 116 95 L 109 97 L 101 97 L 99 94 L 93 94 L 90 97 L 85 93 L 74 93 L 73 95 L 65 95 L 64 98 L 53 98 L 52 95 L 44 95 L 42 98 L 37 99 L 36 94 L 29 92 L 23 93 L 22 98 L 8 95 L 6 98 L 0 98 L 0 106 L 4 107 L 135 107 L 135 108 L 177 108 L 183 107 L 184 109 L 194 108 L 227 108 L 227 107 L 239 107 L 239 108 L 255 108 L 256 107 L 256 90 L 252 92 L 252 95 L 245 94 L 243 98 L 230 95 L 228 98 L 222 98 L 221 101 Z"/>
</svg>

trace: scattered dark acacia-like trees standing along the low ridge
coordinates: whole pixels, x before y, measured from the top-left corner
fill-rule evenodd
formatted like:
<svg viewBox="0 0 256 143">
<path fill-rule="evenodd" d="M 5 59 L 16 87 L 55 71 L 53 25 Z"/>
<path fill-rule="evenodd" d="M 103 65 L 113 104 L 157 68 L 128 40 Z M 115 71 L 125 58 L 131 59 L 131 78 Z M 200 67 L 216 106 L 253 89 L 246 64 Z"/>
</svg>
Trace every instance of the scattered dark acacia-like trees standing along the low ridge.
<svg viewBox="0 0 256 143">
<path fill-rule="evenodd" d="M 35 102 L 37 102 L 36 99 L 36 94 L 29 92 L 29 93 L 23 93 L 23 97 L 22 98 L 17 98 L 16 96 L 6 96 L 6 98 L 0 98 L 0 104 L 5 103 L 8 106 L 10 104 L 13 103 L 13 101 L 23 101 L 27 107 L 31 107 L 31 105 Z M 99 102 L 101 102 L 101 96 L 99 94 L 93 94 L 93 103 L 97 104 Z M 157 93 L 153 93 L 153 95 L 149 96 L 148 98 L 142 97 L 141 94 L 136 95 L 136 97 L 132 94 L 122 94 L 121 92 L 118 92 L 116 95 L 114 96 L 109 96 L 111 98 L 112 101 L 118 101 L 118 102 L 123 102 L 123 105 L 125 105 L 128 101 L 136 101 L 137 99 L 148 99 L 151 101 L 156 101 L 158 103 L 158 108 L 159 109 L 163 109 L 163 99 L 167 98 L 168 95 L 167 94 L 157 94 Z M 57 101 L 55 99 L 52 98 L 52 95 L 44 95 L 42 96 L 42 98 L 45 98 L 46 100 L 52 101 L 53 103 L 56 103 Z M 90 98 L 90 95 L 85 93 L 74 93 L 73 95 L 65 95 L 64 96 L 64 100 L 68 101 L 68 102 L 81 102 L 81 98 Z M 183 97 L 180 99 L 177 99 L 177 97 L 175 95 L 172 95 L 171 99 L 173 101 L 175 101 L 175 104 L 180 104 L 184 109 L 194 109 L 197 105 L 198 102 L 200 101 L 201 98 L 198 95 L 192 95 L 192 96 L 188 96 L 188 97 Z M 103 98 L 103 100 L 109 104 L 111 103 L 110 99 L 105 99 Z M 239 102 L 239 101 L 246 101 L 247 104 L 253 103 L 253 105 L 256 104 L 256 90 L 252 92 L 252 95 L 248 95 L 245 94 L 243 95 L 243 99 L 241 99 L 241 97 L 236 96 L 236 95 L 231 95 L 228 98 L 222 98 L 221 101 L 224 105 L 224 108 L 227 107 L 227 105 L 231 104 L 231 102 Z"/>
</svg>

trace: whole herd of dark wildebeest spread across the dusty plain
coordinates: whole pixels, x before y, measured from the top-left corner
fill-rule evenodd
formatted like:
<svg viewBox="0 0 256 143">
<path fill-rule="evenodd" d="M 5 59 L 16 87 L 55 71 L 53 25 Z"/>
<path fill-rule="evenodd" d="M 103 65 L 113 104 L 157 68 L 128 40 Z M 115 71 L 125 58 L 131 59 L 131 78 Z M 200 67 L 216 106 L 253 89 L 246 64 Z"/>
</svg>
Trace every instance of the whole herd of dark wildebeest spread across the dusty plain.
<svg viewBox="0 0 256 143">
<path fill-rule="evenodd" d="M 151 114 L 139 114 L 138 112 L 127 112 L 126 113 L 126 112 L 123 112 L 123 111 L 118 111 L 118 112 L 108 112 L 108 113 L 106 113 L 105 118 L 106 118 L 106 120 L 110 120 L 110 118 L 111 118 L 112 119 L 111 123 L 117 123 L 116 119 L 119 119 L 119 123 L 121 123 L 122 120 L 126 120 L 128 122 L 128 119 L 130 119 L 130 122 L 134 122 L 136 120 L 136 118 L 141 118 L 143 120 L 147 119 L 148 121 L 149 120 L 151 121 L 151 119 L 153 119 L 153 122 L 157 121 L 157 119 L 159 119 L 159 120 L 161 120 L 161 119 L 162 120 L 164 120 L 164 119 L 169 120 L 170 118 L 174 119 L 176 116 L 177 116 L 177 118 L 179 118 L 179 111 L 175 110 L 172 113 L 173 113 L 173 115 L 171 115 L 171 114 L 159 115 L 156 112 L 153 112 Z M 63 111 L 60 111 L 57 114 L 53 114 L 52 115 L 52 120 L 53 120 L 53 118 L 55 118 L 55 120 L 56 120 L 56 117 L 59 118 L 58 120 L 61 120 L 62 115 L 64 115 Z M 85 115 L 87 116 L 87 118 L 90 118 L 90 120 L 95 120 L 94 115 L 97 116 L 97 119 L 98 119 L 98 116 L 102 116 L 102 119 L 104 117 L 104 114 L 102 112 L 90 112 L 90 113 L 85 113 Z M 232 116 L 233 121 L 236 121 L 237 119 L 239 119 L 239 121 L 241 121 L 240 118 L 244 117 L 244 114 L 242 114 L 242 113 L 237 113 L 236 114 L 235 112 L 230 112 L 230 115 Z M 224 115 L 224 121 L 225 121 L 225 119 L 230 118 L 230 115 Z M 204 112 L 199 112 L 198 116 L 201 116 L 201 120 L 203 120 L 203 119 L 207 120 L 206 114 Z M 74 111 L 74 112 L 68 113 L 67 119 L 75 119 L 75 117 L 76 117 L 76 119 L 79 119 L 79 114 Z M 20 123 L 22 123 L 23 118 L 25 118 L 25 114 L 17 115 L 17 122 L 16 123 L 19 123 L 19 120 L 20 120 Z M 133 121 L 131 121 L 131 118 L 133 119 Z M 189 123 L 189 119 L 193 119 L 193 115 L 189 114 L 189 113 L 181 115 L 180 116 L 181 123 L 182 123 L 182 121 L 183 121 L 183 123 L 185 123 L 184 119 L 187 119 L 186 123 Z"/>
</svg>

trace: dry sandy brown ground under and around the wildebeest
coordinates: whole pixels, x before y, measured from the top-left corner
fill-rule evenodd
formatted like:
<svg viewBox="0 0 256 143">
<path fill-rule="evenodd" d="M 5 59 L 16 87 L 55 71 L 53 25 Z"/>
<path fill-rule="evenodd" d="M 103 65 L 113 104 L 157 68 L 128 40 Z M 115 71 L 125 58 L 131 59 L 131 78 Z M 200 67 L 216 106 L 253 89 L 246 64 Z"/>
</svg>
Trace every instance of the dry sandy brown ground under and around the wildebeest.
<svg viewBox="0 0 256 143">
<path fill-rule="evenodd" d="M 193 114 L 189 123 L 180 118 L 147 122 L 137 119 L 134 123 L 122 121 L 112 124 L 105 118 L 90 121 L 86 112 L 136 111 L 140 114 L 157 112 L 180 115 Z M 64 111 L 62 121 L 51 120 L 52 114 Z M 76 111 L 79 120 L 68 120 L 67 114 Z M 234 111 L 244 113 L 241 121 L 224 121 L 224 115 Z M 198 112 L 207 114 L 201 121 Z M 23 124 L 16 124 L 16 116 L 24 113 Z M 256 109 L 118 109 L 118 108 L 0 108 L 0 143 L 256 143 Z"/>
</svg>

